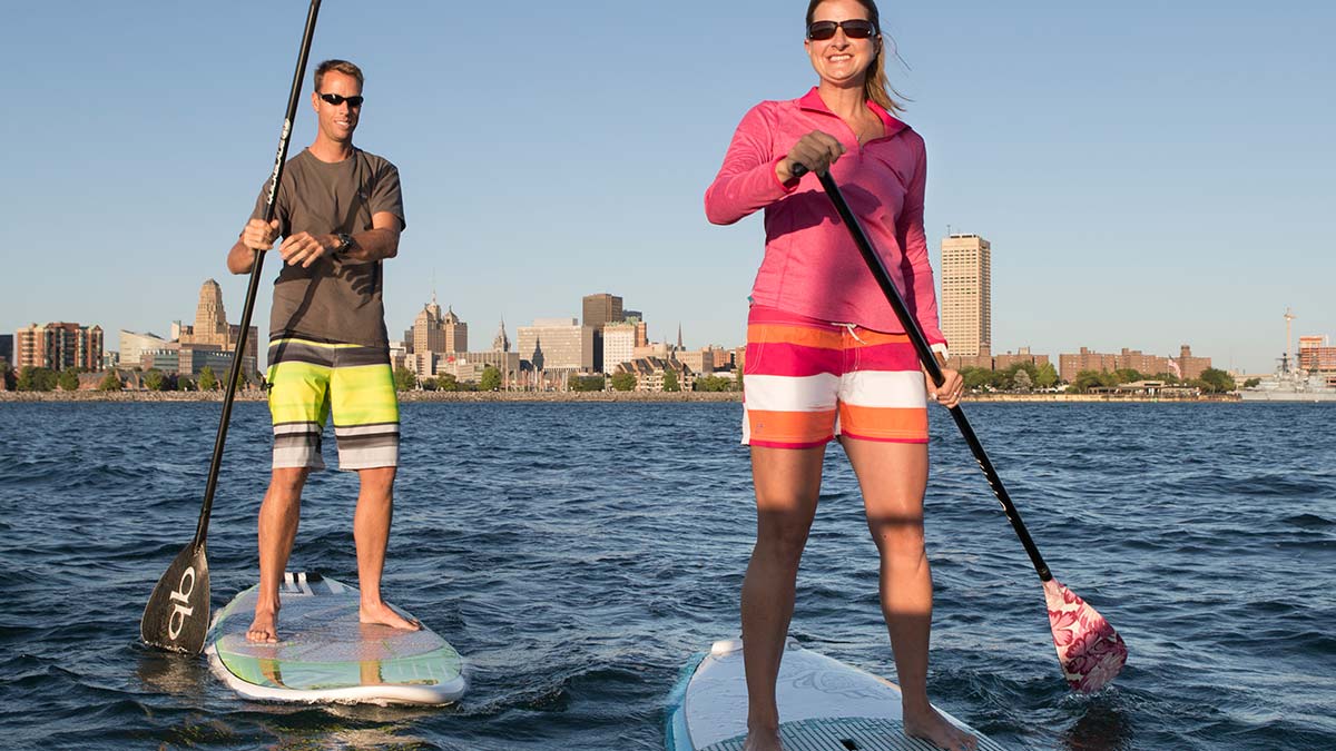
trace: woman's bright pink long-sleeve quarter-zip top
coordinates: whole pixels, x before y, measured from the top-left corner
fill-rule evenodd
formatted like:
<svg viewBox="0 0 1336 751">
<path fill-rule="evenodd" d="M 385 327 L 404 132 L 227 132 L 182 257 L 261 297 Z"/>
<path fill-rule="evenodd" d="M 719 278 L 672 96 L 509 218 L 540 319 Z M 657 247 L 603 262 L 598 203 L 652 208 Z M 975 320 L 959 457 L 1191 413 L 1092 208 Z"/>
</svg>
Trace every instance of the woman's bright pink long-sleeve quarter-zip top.
<svg viewBox="0 0 1336 751">
<path fill-rule="evenodd" d="M 903 331 L 816 175 L 787 184 L 775 175 L 775 166 L 802 136 L 811 131 L 835 136 L 846 152 L 831 166 L 831 175 L 929 343 L 945 345 L 923 234 L 923 139 L 878 104 L 867 106 L 882 118 L 886 135 L 863 146 L 816 88 L 802 99 L 752 107 L 705 191 L 705 215 L 715 224 L 732 224 L 766 210 L 766 258 L 752 286 L 755 305 L 876 331 Z"/>
</svg>

